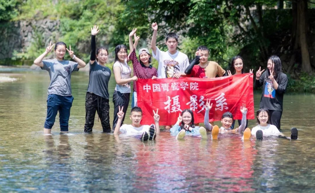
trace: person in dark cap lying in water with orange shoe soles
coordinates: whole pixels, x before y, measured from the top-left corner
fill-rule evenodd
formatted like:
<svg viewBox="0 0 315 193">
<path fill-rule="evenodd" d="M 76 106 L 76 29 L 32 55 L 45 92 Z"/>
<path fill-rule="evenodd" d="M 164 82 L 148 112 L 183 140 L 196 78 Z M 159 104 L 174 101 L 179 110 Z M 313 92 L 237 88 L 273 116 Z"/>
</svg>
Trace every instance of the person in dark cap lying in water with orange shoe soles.
<svg viewBox="0 0 315 193">
<path fill-rule="evenodd" d="M 228 130 L 232 130 L 231 126 L 232 126 L 232 123 L 233 123 L 233 115 L 229 111 L 223 113 L 223 115 L 221 117 L 222 126 L 219 129 L 218 126 L 216 126 L 216 125 L 212 126 L 209 123 L 209 111 L 211 110 L 211 108 L 212 108 L 212 103 L 210 105 L 210 100 L 207 99 L 206 112 L 204 114 L 204 125 L 209 131 L 211 131 L 212 139 L 218 139 L 219 131 L 225 132 L 225 131 L 228 131 Z M 241 122 L 241 125 L 238 128 L 235 129 L 235 131 L 237 131 L 237 132 L 243 132 L 244 131 L 242 139 L 249 139 L 249 137 L 250 137 L 250 129 L 249 128 L 245 129 L 246 114 L 247 114 L 247 108 L 245 107 L 245 104 L 243 104 L 241 106 L 241 113 L 243 115 L 242 116 L 242 122 Z"/>
</svg>

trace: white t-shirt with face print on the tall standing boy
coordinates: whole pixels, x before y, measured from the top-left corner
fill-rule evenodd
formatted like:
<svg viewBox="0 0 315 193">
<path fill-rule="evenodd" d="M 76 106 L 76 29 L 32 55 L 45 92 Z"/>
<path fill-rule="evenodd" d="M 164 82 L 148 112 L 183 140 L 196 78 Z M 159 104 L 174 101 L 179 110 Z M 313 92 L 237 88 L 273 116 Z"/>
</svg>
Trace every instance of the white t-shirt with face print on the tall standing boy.
<svg viewBox="0 0 315 193">
<path fill-rule="evenodd" d="M 156 54 L 152 52 L 152 56 L 158 61 L 158 78 L 170 78 L 176 73 L 184 73 L 189 65 L 187 55 L 178 50 L 175 54 L 171 54 L 169 51 L 163 52 L 156 47 Z"/>
</svg>

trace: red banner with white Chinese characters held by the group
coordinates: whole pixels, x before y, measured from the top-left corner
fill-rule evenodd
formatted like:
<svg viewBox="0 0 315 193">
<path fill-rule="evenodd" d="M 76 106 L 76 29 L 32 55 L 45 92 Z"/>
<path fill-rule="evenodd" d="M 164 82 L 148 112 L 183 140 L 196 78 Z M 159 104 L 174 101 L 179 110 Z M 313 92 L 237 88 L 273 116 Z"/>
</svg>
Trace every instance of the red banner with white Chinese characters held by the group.
<svg viewBox="0 0 315 193">
<path fill-rule="evenodd" d="M 153 111 L 158 109 L 160 125 L 174 125 L 184 109 L 191 109 L 195 123 L 203 122 L 205 104 L 213 103 L 209 121 L 221 120 L 230 111 L 234 119 L 242 119 L 241 105 L 248 108 L 247 119 L 254 119 L 253 74 L 218 78 L 138 79 L 138 106 L 142 109 L 141 124 L 152 124 Z"/>
</svg>

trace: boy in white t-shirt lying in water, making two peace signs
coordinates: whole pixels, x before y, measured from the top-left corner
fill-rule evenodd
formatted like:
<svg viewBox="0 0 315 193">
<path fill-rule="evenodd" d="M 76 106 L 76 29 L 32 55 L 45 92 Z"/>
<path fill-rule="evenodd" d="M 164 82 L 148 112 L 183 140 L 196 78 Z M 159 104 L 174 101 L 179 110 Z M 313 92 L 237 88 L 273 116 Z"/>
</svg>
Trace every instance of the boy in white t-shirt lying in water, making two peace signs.
<svg viewBox="0 0 315 193">
<path fill-rule="evenodd" d="M 127 135 L 136 135 L 139 133 L 142 133 L 140 140 L 141 141 L 147 141 L 147 140 L 154 140 L 156 135 L 160 133 L 160 127 L 159 127 L 159 120 L 160 116 L 157 114 L 158 109 L 156 112 L 153 110 L 153 118 L 154 123 L 151 125 L 141 125 L 141 119 L 142 119 L 142 110 L 140 107 L 134 107 L 131 109 L 130 112 L 130 119 L 131 119 L 131 125 L 123 124 L 120 126 L 120 123 L 123 119 L 123 106 L 120 109 L 119 106 L 119 112 L 117 113 L 118 121 L 114 130 L 115 135 L 119 135 L 120 133 L 126 133 Z"/>
</svg>

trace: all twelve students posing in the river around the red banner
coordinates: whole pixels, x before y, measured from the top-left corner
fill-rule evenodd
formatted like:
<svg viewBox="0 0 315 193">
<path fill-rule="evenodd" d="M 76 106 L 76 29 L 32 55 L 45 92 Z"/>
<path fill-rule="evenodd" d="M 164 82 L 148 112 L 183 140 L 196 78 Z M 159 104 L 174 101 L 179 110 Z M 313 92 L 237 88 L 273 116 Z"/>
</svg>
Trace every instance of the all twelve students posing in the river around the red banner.
<svg viewBox="0 0 315 193">
<path fill-rule="evenodd" d="M 165 37 L 165 44 L 168 47 L 168 51 L 161 51 L 156 46 L 157 28 L 157 23 L 152 23 L 153 35 L 151 40 L 151 48 L 153 58 L 158 61 L 157 69 L 152 67 L 151 65 L 152 57 L 147 48 L 141 48 L 139 50 L 138 60 L 135 50 L 140 37 L 136 36 L 136 28 L 134 28 L 129 34 L 129 55 L 127 47 L 125 45 L 120 44 L 117 45 L 115 48 L 115 61 L 113 64 L 113 73 L 115 76 L 115 81 L 117 83 L 115 91 L 113 93 L 113 130 L 115 134 L 118 134 L 122 131 L 128 133 L 129 129 L 131 129 L 131 133 L 142 132 L 141 139 L 144 140 L 154 139 L 156 134 L 160 132 L 158 126 L 159 115 L 157 114 L 157 112 L 154 112 L 155 124 L 143 127 L 141 129 L 139 128 L 142 127 L 139 121 L 141 120 L 142 111 L 139 107 L 137 107 L 136 81 L 138 78 L 214 78 L 244 73 L 242 57 L 235 56 L 232 59 L 231 70 L 228 70 L 226 72 L 218 63 L 214 61 L 208 61 L 209 49 L 206 46 L 199 46 L 197 48 L 196 57 L 189 64 L 187 55 L 177 50 L 178 36 L 177 34 L 172 32 L 168 33 Z M 93 28 L 91 28 L 91 55 L 89 61 L 90 71 L 89 85 L 85 100 L 86 116 L 84 132 L 92 132 L 96 111 L 100 118 L 103 132 L 112 131 L 109 122 L 108 92 L 108 82 L 112 72 L 108 67 L 106 67 L 108 59 L 107 48 L 99 47 L 96 49 L 95 37 L 99 31 L 100 30 L 98 29 L 98 26 L 93 26 Z M 133 42 L 133 37 L 135 39 L 135 42 Z M 52 60 L 43 60 L 53 47 L 56 58 Z M 64 60 L 66 51 L 68 51 L 70 57 L 75 60 L 75 62 Z M 128 65 L 129 60 L 131 60 L 133 64 L 133 77 L 131 77 L 132 69 Z M 48 88 L 47 117 L 44 124 L 44 133 L 51 133 L 51 128 L 54 125 L 55 117 L 58 111 L 60 118 L 60 130 L 61 132 L 68 132 L 70 108 L 73 101 L 73 97 L 71 94 L 71 73 L 73 71 L 78 71 L 81 67 L 85 67 L 86 64 L 84 61 L 80 60 L 74 55 L 74 52 L 71 50 L 71 46 L 68 50 L 66 44 L 63 42 L 58 42 L 53 45 L 51 45 L 50 42 L 49 46 L 46 48 L 46 51 L 41 54 L 36 60 L 34 60 L 34 64 L 40 66 L 43 70 L 47 70 L 51 79 Z M 262 123 L 261 127 L 268 127 L 259 129 L 264 134 L 268 134 L 268 129 L 270 127 L 274 128 L 275 126 L 278 132 L 280 130 L 280 119 L 282 116 L 283 108 L 283 95 L 288 82 L 287 76 L 282 73 L 282 65 L 278 56 L 271 56 L 268 59 L 267 68 L 268 70 L 264 72 L 264 70 L 261 70 L 260 67 L 259 70 L 256 72 L 255 80 L 255 87 L 264 86 L 260 102 L 260 108 L 263 110 L 260 113 L 267 115 L 267 118 L 266 116 L 264 116 L 264 119 L 260 120 L 258 119 L 258 117 L 260 117 L 260 114 L 257 114 L 257 122 L 259 123 L 258 126 L 260 126 Z M 252 72 L 253 70 L 250 70 L 250 73 Z M 127 126 L 123 125 L 123 121 L 127 112 L 127 108 L 129 106 L 131 93 L 130 83 L 132 81 L 133 98 L 130 118 L 133 124 Z M 207 134 L 207 129 L 212 132 L 212 137 L 216 138 L 216 133 L 218 133 L 219 129 L 217 127 L 212 127 L 211 123 L 208 122 L 209 110 L 211 109 L 211 107 L 212 104 L 210 106 L 208 102 L 204 122 L 206 128 L 195 126 L 191 110 L 186 109 L 181 113 L 176 124 L 172 128 L 170 128 L 170 131 L 172 133 L 178 132 L 177 138 L 182 138 L 183 136 L 185 136 L 184 133 L 186 134 L 187 132 L 192 134 L 199 133 L 203 138 L 205 138 Z M 245 119 L 242 119 L 242 121 L 238 120 L 239 128 L 237 128 L 237 130 L 248 133 L 248 130 L 245 129 L 247 128 L 246 113 L 244 116 L 245 110 L 247 113 L 247 109 L 245 107 L 241 108 L 243 118 L 245 117 Z M 133 116 L 135 116 L 134 120 L 132 118 Z M 234 120 L 230 112 L 226 112 L 223 114 L 221 122 L 221 130 L 229 130 L 234 128 Z M 265 125 L 265 123 L 267 125 Z M 132 127 L 134 131 L 132 130 Z M 146 132 L 142 131 L 142 129 L 144 129 Z M 247 136 L 248 135 L 246 134 L 245 138 L 247 138 Z"/>
</svg>

